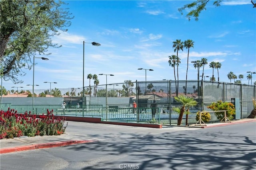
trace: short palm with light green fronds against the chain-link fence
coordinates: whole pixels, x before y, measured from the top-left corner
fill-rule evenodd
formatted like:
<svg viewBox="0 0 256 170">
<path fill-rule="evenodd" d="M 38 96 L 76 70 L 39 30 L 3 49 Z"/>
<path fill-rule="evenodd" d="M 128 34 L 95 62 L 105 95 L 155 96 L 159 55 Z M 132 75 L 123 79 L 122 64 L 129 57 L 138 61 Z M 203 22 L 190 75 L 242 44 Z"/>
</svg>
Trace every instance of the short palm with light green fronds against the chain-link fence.
<svg viewBox="0 0 256 170">
<path fill-rule="evenodd" d="M 176 102 L 180 102 L 183 105 L 180 108 L 180 115 L 178 117 L 178 123 L 177 123 L 177 125 L 180 125 L 185 111 L 189 111 L 189 107 L 191 107 L 191 106 L 196 106 L 197 102 L 193 98 L 190 98 L 185 95 L 175 96 L 174 99 L 176 100 Z M 187 107 L 187 109 L 186 109 L 186 107 Z M 186 114 L 188 114 L 188 113 L 186 112 Z M 186 124 L 187 124 L 187 121 L 186 121 Z"/>
</svg>

